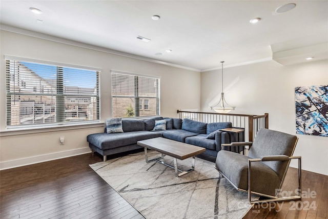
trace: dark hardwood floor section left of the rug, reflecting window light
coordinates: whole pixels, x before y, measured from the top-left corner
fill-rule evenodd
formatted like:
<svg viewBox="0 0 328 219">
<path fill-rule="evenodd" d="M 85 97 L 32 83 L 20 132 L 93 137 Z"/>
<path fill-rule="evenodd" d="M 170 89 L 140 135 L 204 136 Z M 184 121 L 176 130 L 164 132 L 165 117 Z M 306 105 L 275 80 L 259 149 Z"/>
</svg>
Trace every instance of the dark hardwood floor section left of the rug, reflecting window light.
<svg viewBox="0 0 328 219">
<path fill-rule="evenodd" d="M 112 189 L 84 154 L 0 171 L 0 218 L 145 218 Z"/>
</svg>

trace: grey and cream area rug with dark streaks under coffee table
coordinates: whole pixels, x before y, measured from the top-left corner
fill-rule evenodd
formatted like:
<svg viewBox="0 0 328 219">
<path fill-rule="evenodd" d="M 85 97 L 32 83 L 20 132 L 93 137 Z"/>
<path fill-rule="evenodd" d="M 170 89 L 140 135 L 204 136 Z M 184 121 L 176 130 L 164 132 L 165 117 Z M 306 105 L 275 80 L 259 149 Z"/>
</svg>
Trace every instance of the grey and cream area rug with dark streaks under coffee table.
<svg viewBox="0 0 328 219">
<path fill-rule="evenodd" d="M 149 159 L 159 155 L 148 151 Z M 174 165 L 170 156 L 163 161 Z M 252 207 L 247 193 L 219 178 L 212 162 L 197 157 L 195 170 L 180 177 L 165 165 L 146 163 L 143 152 L 90 167 L 148 219 L 242 218 Z M 191 158 L 178 160 L 178 167 L 190 169 Z"/>
</svg>

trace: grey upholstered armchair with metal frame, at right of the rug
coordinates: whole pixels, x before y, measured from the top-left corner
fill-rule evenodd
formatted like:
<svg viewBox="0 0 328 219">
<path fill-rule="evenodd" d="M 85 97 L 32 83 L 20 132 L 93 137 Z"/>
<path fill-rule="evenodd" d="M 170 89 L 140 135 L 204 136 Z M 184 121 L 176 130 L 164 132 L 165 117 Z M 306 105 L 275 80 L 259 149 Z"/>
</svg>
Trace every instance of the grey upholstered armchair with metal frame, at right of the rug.
<svg viewBox="0 0 328 219">
<path fill-rule="evenodd" d="M 270 129 L 260 129 L 254 142 L 222 144 L 222 147 L 249 145 L 248 156 L 221 150 L 215 168 L 240 191 L 248 192 L 250 203 L 288 201 L 301 198 L 301 157 L 292 156 L 298 137 Z M 278 197 L 290 161 L 298 159 L 298 194 Z M 252 194 L 268 197 L 253 201 Z"/>
</svg>

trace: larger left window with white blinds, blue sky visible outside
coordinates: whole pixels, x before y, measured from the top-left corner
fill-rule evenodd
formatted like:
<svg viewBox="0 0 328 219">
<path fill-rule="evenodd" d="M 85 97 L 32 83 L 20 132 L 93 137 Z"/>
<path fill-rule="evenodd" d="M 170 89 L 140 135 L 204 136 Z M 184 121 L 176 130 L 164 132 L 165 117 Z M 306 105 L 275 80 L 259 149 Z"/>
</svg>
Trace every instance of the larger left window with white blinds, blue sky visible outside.
<svg viewBox="0 0 328 219">
<path fill-rule="evenodd" d="M 6 56 L 7 128 L 98 122 L 99 77 L 99 69 Z"/>
</svg>

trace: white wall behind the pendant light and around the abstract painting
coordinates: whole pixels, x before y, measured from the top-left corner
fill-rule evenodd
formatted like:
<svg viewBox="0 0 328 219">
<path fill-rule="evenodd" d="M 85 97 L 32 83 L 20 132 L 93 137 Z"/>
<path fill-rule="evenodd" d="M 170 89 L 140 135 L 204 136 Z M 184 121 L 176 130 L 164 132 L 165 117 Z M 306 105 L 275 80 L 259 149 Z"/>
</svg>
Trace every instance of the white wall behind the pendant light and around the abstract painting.
<svg viewBox="0 0 328 219">
<path fill-rule="evenodd" d="M 327 60 L 290 66 L 269 61 L 223 71 L 224 96 L 236 106 L 233 113 L 269 113 L 269 128 L 290 134 L 296 134 L 295 87 L 328 84 Z M 221 69 L 202 72 L 201 110 L 210 111 L 209 103 L 220 93 Z M 328 175 L 328 137 L 297 136 L 294 155 L 302 156 L 302 169 Z"/>
</svg>

